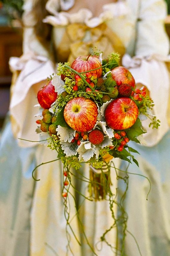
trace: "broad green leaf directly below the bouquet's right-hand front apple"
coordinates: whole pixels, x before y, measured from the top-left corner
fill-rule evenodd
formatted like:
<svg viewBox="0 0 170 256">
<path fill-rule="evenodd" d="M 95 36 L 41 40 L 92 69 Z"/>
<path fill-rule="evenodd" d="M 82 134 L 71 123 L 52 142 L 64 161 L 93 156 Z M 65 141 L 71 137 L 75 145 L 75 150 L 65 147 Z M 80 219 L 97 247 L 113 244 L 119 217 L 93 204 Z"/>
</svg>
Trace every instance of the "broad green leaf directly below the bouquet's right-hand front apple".
<svg viewBox="0 0 170 256">
<path fill-rule="evenodd" d="M 146 133 L 142 130 L 142 124 L 140 122 L 140 119 L 137 118 L 136 122 L 134 123 L 133 126 L 131 126 L 130 129 L 128 129 L 127 132 L 127 137 L 137 143 L 139 143 L 139 141 L 137 139 L 135 139 L 136 137 L 138 137 L 139 135 Z"/>
</svg>

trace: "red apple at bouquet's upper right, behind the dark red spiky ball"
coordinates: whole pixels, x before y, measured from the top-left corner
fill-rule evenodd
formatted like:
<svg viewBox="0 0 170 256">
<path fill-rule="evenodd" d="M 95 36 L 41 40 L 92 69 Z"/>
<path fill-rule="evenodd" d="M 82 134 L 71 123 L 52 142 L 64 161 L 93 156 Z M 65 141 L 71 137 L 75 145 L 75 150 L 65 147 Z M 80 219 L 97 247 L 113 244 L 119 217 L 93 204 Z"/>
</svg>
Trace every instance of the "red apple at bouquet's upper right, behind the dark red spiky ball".
<svg viewBox="0 0 170 256">
<path fill-rule="evenodd" d="M 113 79 L 119 84 L 128 84 L 135 87 L 135 80 L 131 72 L 125 67 L 118 66 L 111 70 Z"/>
</svg>

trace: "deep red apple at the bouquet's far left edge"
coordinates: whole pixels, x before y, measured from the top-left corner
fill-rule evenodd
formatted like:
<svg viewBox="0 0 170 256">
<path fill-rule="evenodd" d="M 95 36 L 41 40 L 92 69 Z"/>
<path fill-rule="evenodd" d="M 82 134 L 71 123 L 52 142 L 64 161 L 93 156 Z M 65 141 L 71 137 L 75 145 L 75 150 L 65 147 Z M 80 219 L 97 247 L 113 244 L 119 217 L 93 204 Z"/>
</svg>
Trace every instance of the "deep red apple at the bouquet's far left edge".
<svg viewBox="0 0 170 256">
<path fill-rule="evenodd" d="M 49 109 L 51 104 L 55 102 L 57 98 L 57 92 L 55 87 L 52 85 L 52 80 L 46 83 L 37 94 L 37 99 L 42 108 Z"/>
</svg>

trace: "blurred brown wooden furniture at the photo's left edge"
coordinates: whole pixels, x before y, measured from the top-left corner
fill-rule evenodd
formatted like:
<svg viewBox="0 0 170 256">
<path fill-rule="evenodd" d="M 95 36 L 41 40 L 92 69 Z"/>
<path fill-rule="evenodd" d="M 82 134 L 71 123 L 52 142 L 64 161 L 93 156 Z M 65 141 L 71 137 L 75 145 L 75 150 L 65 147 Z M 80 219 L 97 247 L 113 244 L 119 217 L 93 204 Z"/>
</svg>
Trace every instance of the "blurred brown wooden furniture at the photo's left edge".
<svg viewBox="0 0 170 256">
<path fill-rule="evenodd" d="M 0 128 L 9 108 L 12 73 L 9 58 L 22 55 L 22 29 L 0 26 Z"/>
</svg>

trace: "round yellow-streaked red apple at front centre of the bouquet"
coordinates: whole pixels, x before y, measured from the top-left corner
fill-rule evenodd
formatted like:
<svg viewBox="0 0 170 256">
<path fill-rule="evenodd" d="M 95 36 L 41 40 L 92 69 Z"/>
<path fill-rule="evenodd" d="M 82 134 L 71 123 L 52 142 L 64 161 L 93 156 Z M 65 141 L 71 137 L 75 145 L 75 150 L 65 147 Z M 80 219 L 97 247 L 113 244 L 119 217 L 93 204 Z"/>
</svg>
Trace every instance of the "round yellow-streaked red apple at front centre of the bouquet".
<svg viewBox="0 0 170 256">
<path fill-rule="evenodd" d="M 64 109 L 66 123 L 78 132 L 88 132 L 93 129 L 98 116 L 95 102 L 84 97 L 76 97 L 68 101 Z"/>
</svg>

